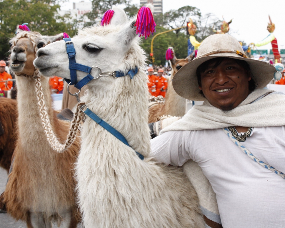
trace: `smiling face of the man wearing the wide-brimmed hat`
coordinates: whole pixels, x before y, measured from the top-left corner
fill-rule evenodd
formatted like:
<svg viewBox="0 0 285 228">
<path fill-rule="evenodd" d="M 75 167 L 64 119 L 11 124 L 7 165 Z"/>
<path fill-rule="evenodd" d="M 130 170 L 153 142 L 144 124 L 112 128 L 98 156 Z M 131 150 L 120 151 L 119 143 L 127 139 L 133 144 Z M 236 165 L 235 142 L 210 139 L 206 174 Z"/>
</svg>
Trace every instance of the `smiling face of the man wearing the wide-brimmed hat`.
<svg viewBox="0 0 285 228">
<path fill-rule="evenodd" d="M 231 58 L 224 59 L 215 69 L 214 65 L 201 73 L 199 88 L 211 105 L 222 110 L 234 109 L 249 95 L 251 76 Z"/>
</svg>

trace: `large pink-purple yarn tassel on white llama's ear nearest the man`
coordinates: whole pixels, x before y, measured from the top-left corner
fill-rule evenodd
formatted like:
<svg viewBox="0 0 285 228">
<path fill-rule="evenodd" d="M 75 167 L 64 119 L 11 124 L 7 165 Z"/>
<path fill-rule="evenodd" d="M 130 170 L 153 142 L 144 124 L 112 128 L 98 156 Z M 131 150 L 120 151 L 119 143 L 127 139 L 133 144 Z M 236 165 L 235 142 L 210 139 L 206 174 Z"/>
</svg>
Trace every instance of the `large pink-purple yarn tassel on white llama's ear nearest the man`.
<svg viewBox="0 0 285 228">
<path fill-rule="evenodd" d="M 135 26 L 137 26 L 137 34 L 139 34 L 139 37 L 144 36 L 147 38 L 150 33 L 153 35 L 153 33 L 156 32 L 156 24 L 148 7 L 143 6 L 139 9 Z"/>
</svg>

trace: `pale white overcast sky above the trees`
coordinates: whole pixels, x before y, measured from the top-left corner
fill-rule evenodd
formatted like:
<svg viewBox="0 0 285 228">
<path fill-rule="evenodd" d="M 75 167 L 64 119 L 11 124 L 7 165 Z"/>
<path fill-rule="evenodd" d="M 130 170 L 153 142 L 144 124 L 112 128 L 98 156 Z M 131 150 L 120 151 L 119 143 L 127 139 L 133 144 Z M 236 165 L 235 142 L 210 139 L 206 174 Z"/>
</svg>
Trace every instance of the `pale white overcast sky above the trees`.
<svg viewBox="0 0 285 228">
<path fill-rule="evenodd" d="M 79 1 L 69 0 L 64 8 L 71 9 L 72 3 Z M 139 5 L 139 2 L 139 0 L 133 0 L 134 4 Z M 268 36 L 266 27 L 269 14 L 276 27 L 274 35 L 278 48 L 285 49 L 285 0 L 163 0 L 163 13 L 186 5 L 197 7 L 202 15 L 213 13 L 221 20 L 223 16 L 226 21 L 233 18 L 229 34 L 247 44 L 261 41 Z M 258 49 L 272 49 L 271 43 Z"/>
</svg>

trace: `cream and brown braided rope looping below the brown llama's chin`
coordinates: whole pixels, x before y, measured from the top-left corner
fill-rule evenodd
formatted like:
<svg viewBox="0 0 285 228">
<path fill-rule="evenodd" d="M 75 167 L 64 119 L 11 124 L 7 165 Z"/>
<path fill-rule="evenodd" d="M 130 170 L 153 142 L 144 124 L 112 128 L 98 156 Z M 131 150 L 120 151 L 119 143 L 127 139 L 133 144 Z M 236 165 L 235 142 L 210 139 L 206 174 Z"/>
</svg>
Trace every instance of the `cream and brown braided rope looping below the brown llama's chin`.
<svg viewBox="0 0 285 228">
<path fill-rule="evenodd" d="M 75 139 L 76 133 L 78 131 L 80 121 L 83 118 L 84 113 L 80 110 L 80 107 L 84 105 L 84 102 L 80 102 L 77 105 L 76 112 L 74 113 L 74 117 L 72 120 L 72 124 L 70 126 L 70 130 L 68 133 L 68 137 L 65 141 L 65 144 L 61 144 L 58 141 L 58 138 L 55 136 L 54 131 L 52 130 L 51 124 L 50 124 L 50 118 L 48 115 L 48 112 L 46 110 L 46 105 L 44 103 L 44 94 L 42 92 L 42 85 L 40 82 L 40 75 L 36 74 L 34 76 L 35 79 L 35 88 L 36 88 L 36 97 L 38 100 L 38 108 L 40 113 L 40 118 L 42 122 L 42 126 L 44 128 L 44 133 L 46 134 L 46 138 L 48 140 L 48 143 L 52 147 L 53 150 L 55 150 L 58 153 L 64 152 L 67 148 L 69 148 L 72 144 L 72 142 Z"/>
</svg>

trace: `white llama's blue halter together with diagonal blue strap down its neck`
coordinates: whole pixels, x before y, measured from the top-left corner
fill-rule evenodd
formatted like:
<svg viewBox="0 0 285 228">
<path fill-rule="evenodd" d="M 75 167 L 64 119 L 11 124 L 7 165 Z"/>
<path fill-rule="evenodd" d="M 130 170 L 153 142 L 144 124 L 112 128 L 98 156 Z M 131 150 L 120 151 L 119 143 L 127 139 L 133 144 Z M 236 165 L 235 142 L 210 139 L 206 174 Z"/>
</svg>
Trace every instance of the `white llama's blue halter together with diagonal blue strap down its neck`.
<svg viewBox="0 0 285 228">
<path fill-rule="evenodd" d="M 97 78 L 99 78 L 100 76 L 101 77 L 113 76 L 114 78 L 118 78 L 118 77 L 123 77 L 123 76 L 129 75 L 130 78 L 133 79 L 133 77 L 139 71 L 139 68 L 136 67 L 135 69 L 130 70 L 127 74 L 125 74 L 122 71 L 113 71 L 113 73 L 105 73 L 105 72 L 101 72 L 101 69 L 99 67 L 96 67 L 96 66 L 88 67 L 88 66 L 76 63 L 76 61 L 75 61 L 75 54 L 76 54 L 75 48 L 74 48 L 74 45 L 73 45 L 71 39 L 70 38 L 64 38 L 63 40 L 65 41 L 66 52 L 68 54 L 68 59 L 69 59 L 69 67 L 68 68 L 70 70 L 70 80 L 65 79 L 66 82 L 68 83 L 68 86 L 74 85 L 76 88 L 78 88 L 80 90 L 84 85 L 86 85 L 92 79 L 96 79 L 90 74 L 93 67 L 95 67 L 99 70 L 99 76 Z M 85 76 L 83 79 L 81 79 L 79 82 L 77 82 L 76 70 L 86 72 L 86 73 L 88 73 L 88 75 Z M 77 97 L 77 100 L 79 102 L 78 94 L 75 93 L 75 95 L 77 95 L 76 97 Z M 84 107 L 86 107 L 85 111 L 84 111 Z M 108 123 L 103 121 L 100 117 L 98 117 L 95 113 L 93 113 L 87 107 L 87 105 L 82 105 L 80 107 L 80 110 L 82 112 L 84 112 L 87 116 L 89 116 L 93 121 L 98 123 L 101 127 L 105 128 L 107 131 L 109 131 L 111 134 L 113 134 L 113 136 L 115 136 L 116 138 L 121 140 L 121 142 L 123 142 L 127 146 L 130 146 L 128 144 L 126 138 L 120 132 L 118 132 L 115 128 L 111 127 L 111 125 L 109 125 Z M 142 159 L 142 160 L 144 159 L 144 156 L 142 154 L 140 154 L 137 151 L 135 151 L 135 152 L 140 159 Z"/>
</svg>

